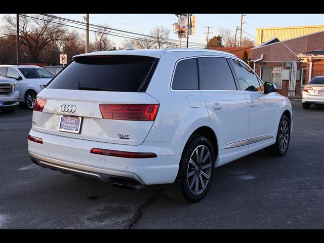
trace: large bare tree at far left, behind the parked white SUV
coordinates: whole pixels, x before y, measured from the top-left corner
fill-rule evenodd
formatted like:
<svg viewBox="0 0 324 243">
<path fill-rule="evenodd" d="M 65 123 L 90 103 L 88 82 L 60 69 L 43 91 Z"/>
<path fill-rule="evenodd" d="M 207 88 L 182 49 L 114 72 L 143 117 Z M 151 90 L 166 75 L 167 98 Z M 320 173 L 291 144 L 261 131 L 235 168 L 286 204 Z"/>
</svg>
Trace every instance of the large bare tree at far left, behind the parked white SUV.
<svg viewBox="0 0 324 243">
<path fill-rule="evenodd" d="M 34 18 L 21 15 L 19 18 L 20 44 L 29 49 L 34 60 L 38 60 L 42 50 L 48 45 L 63 40 L 62 37 L 66 29 L 52 17 L 43 15 L 33 15 L 32 17 Z M 10 15 L 7 15 L 5 19 L 7 24 L 2 34 L 5 37 L 16 36 L 16 19 Z"/>
</svg>

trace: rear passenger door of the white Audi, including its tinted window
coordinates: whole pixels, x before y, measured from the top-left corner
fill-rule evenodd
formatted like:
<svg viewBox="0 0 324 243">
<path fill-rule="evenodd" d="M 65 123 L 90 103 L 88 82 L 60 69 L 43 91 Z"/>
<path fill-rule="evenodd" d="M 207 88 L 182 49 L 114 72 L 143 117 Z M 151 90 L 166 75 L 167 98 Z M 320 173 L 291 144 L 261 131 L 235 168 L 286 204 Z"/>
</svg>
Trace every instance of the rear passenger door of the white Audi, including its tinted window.
<svg viewBox="0 0 324 243">
<path fill-rule="evenodd" d="M 236 88 L 230 66 L 223 57 L 201 57 L 200 91 L 206 101 L 212 126 L 217 129 L 220 149 L 247 152 L 249 106 Z M 236 150 L 236 151 L 238 151 Z"/>
</svg>

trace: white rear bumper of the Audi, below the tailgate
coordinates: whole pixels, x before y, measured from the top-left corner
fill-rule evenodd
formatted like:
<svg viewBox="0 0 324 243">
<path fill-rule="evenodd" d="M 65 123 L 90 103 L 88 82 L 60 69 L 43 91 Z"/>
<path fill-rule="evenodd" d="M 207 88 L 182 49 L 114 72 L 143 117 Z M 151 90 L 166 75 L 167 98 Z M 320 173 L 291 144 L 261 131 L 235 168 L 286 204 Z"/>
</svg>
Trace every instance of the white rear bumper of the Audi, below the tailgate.
<svg viewBox="0 0 324 243">
<path fill-rule="evenodd" d="M 109 182 L 110 177 L 129 178 L 143 185 L 173 183 L 178 174 L 181 155 L 159 155 L 155 146 L 110 144 L 34 130 L 30 130 L 29 135 L 43 139 L 43 144 L 28 140 L 28 153 L 34 159 L 34 163 L 61 172 L 82 174 L 105 182 Z M 155 152 L 157 157 L 122 158 L 90 153 L 94 147 Z"/>
</svg>

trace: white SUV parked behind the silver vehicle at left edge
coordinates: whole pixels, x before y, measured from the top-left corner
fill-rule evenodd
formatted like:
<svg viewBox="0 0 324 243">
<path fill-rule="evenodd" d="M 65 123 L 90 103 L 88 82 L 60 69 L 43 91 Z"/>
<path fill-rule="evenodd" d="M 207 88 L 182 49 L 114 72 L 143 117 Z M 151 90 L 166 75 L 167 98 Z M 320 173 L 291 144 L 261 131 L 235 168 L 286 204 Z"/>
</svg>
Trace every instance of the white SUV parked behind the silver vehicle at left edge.
<svg viewBox="0 0 324 243">
<path fill-rule="evenodd" d="M 19 100 L 29 109 L 34 107 L 36 95 L 54 77 L 44 68 L 34 65 L 0 65 L 0 75 L 17 81 Z"/>
</svg>

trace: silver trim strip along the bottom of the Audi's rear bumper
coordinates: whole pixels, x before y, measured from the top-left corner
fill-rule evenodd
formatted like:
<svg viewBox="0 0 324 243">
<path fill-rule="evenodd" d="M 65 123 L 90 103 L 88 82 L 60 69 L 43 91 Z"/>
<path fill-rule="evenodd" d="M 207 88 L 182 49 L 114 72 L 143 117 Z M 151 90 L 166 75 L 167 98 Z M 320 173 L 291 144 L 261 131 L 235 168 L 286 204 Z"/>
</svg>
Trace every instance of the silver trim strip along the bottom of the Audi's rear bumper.
<svg viewBox="0 0 324 243">
<path fill-rule="evenodd" d="M 84 166 L 84 165 L 78 165 L 78 164 L 69 163 L 69 162 L 54 159 L 54 158 L 45 157 L 45 156 L 38 155 L 38 154 L 35 154 L 33 152 L 29 152 L 29 151 L 28 151 L 28 155 L 30 157 L 36 159 L 39 164 L 44 164 L 44 165 L 47 165 L 47 166 L 56 167 L 58 169 L 64 169 L 64 170 L 71 171 L 71 172 L 83 173 L 83 174 L 87 174 L 87 175 L 90 175 L 90 176 L 95 176 L 95 177 L 98 177 L 98 178 L 101 178 L 100 174 L 104 174 L 104 175 L 107 175 L 107 176 L 130 178 L 130 179 L 136 180 L 139 183 L 145 185 L 145 183 L 142 181 L 142 179 L 139 178 L 137 175 L 135 175 L 133 173 L 123 172 L 123 171 L 107 170 L 107 169 L 101 169 L 101 168 L 97 168 L 97 167 L 90 167 L 90 166 Z M 81 171 L 79 171 L 79 170 L 81 170 Z M 99 173 L 99 175 L 97 173 Z"/>
</svg>

